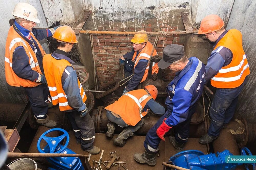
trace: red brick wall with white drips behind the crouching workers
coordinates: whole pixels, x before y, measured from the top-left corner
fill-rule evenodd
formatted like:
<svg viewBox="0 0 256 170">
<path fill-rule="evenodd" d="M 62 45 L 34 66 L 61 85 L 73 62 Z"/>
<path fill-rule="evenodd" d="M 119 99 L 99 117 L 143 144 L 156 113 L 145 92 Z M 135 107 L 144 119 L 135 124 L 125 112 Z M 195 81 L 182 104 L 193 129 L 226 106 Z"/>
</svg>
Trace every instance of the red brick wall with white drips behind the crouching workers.
<svg viewBox="0 0 256 170">
<path fill-rule="evenodd" d="M 103 21 L 89 18 L 85 29 L 92 29 L 97 31 L 174 31 L 185 30 L 180 11 L 170 11 L 169 18 L 157 19 L 149 18 L 140 22 L 139 25 L 134 26 L 134 22 L 127 21 L 124 26 L 124 21 L 116 20 Z M 91 25 L 90 25 L 91 20 Z M 93 22 L 92 22 L 93 21 Z M 101 23 L 102 22 L 102 23 Z M 139 21 L 137 21 L 139 22 Z M 96 25 L 96 26 L 95 26 Z M 99 25 L 99 26 L 98 26 Z M 168 44 L 180 44 L 183 45 L 186 34 L 173 34 L 173 35 L 161 35 L 158 38 L 156 51 L 159 56 L 163 55 L 163 47 Z M 93 35 L 93 46 L 95 53 L 95 66 L 97 78 L 100 86 L 104 86 L 116 78 L 122 79 L 121 67 L 119 65 L 120 56 L 130 52 L 132 50 L 131 39 L 133 35 Z M 156 35 L 148 35 L 149 41 L 153 44 Z M 165 69 L 162 71 L 162 78 L 164 81 L 170 81 L 174 77 L 174 72 Z"/>
</svg>

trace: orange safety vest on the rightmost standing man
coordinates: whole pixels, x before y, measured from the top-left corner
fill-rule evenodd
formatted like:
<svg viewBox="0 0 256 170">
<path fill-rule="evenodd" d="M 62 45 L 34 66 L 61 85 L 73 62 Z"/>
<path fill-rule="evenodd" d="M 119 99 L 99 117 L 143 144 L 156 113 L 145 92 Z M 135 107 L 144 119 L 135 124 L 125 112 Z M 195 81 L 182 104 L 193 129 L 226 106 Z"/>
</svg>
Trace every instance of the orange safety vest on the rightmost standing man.
<svg viewBox="0 0 256 170">
<path fill-rule="evenodd" d="M 219 72 L 212 77 L 211 85 L 217 88 L 235 88 L 240 86 L 245 77 L 250 74 L 249 64 L 242 46 L 242 34 L 236 29 L 229 30 L 216 44 L 214 49 L 221 50 L 228 48 L 233 58 L 230 64 L 222 67 Z M 218 52 L 218 51 L 217 51 Z"/>
</svg>

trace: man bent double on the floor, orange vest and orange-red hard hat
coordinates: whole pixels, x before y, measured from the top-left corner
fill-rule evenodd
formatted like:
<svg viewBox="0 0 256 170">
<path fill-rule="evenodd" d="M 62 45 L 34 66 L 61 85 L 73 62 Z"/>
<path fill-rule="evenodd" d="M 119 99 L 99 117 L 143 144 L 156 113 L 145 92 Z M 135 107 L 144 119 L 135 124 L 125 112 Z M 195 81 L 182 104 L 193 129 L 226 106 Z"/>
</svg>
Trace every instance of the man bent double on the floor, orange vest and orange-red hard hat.
<svg viewBox="0 0 256 170">
<path fill-rule="evenodd" d="M 154 85 L 147 85 L 145 89 L 132 90 L 121 96 L 118 101 L 105 107 L 108 123 L 106 136 L 112 138 L 115 131 L 115 124 L 125 129 L 113 139 L 115 145 L 123 147 L 126 139 L 133 136 L 133 133 L 140 129 L 145 120 L 143 117 L 148 109 L 156 115 L 163 115 L 165 109 L 155 101 L 157 88 Z"/>
</svg>

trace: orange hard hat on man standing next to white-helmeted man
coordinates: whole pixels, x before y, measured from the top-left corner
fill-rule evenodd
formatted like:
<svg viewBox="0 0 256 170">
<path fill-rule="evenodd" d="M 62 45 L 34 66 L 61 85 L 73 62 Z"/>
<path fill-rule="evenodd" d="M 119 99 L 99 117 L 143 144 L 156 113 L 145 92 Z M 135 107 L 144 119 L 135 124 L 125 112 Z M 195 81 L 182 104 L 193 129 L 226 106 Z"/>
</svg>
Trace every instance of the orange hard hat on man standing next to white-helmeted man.
<svg viewBox="0 0 256 170">
<path fill-rule="evenodd" d="M 78 43 L 75 32 L 67 25 L 58 27 L 52 37 L 58 42 Z"/>
</svg>

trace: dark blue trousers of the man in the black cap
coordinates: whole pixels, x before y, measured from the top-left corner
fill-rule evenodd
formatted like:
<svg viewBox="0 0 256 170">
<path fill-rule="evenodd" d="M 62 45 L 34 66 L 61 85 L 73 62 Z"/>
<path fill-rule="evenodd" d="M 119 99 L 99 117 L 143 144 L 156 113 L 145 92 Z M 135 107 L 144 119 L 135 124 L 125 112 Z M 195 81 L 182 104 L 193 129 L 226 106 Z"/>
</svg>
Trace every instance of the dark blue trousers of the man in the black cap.
<svg viewBox="0 0 256 170">
<path fill-rule="evenodd" d="M 195 104 L 193 107 L 189 108 L 188 118 L 184 122 L 181 122 L 178 125 L 176 125 L 175 127 L 173 127 L 173 128 L 175 128 L 175 130 L 174 130 L 175 139 L 178 142 L 182 142 L 182 143 L 187 142 L 187 139 L 189 136 L 189 123 L 191 121 L 192 115 L 196 111 L 196 106 L 197 106 L 197 104 Z M 171 114 L 172 114 L 172 112 L 170 112 L 170 113 L 165 112 L 165 114 L 162 117 L 160 117 L 160 119 L 156 122 L 156 124 L 147 132 L 146 139 L 144 141 L 144 147 L 148 151 L 157 152 L 158 145 L 159 145 L 161 139 L 157 136 L 156 130 L 163 123 L 164 119 L 168 118 Z"/>
</svg>

